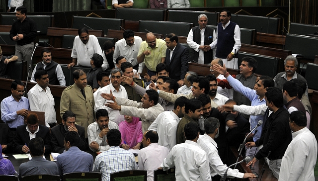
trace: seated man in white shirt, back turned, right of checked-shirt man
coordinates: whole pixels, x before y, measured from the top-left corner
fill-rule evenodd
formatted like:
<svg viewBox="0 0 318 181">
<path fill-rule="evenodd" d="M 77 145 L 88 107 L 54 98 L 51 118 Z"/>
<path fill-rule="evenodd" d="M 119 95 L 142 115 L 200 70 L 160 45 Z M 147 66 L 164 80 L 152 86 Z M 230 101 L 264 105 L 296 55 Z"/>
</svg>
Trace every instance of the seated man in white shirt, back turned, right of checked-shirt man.
<svg viewBox="0 0 318 181">
<path fill-rule="evenodd" d="M 147 131 L 143 136 L 144 148 L 138 154 L 139 170 L 147 170 L 147 181 L 154 181 L 154 170 L 160 167 L 169 150 L 158 144 L 156 131 Z"/>
</svg>

